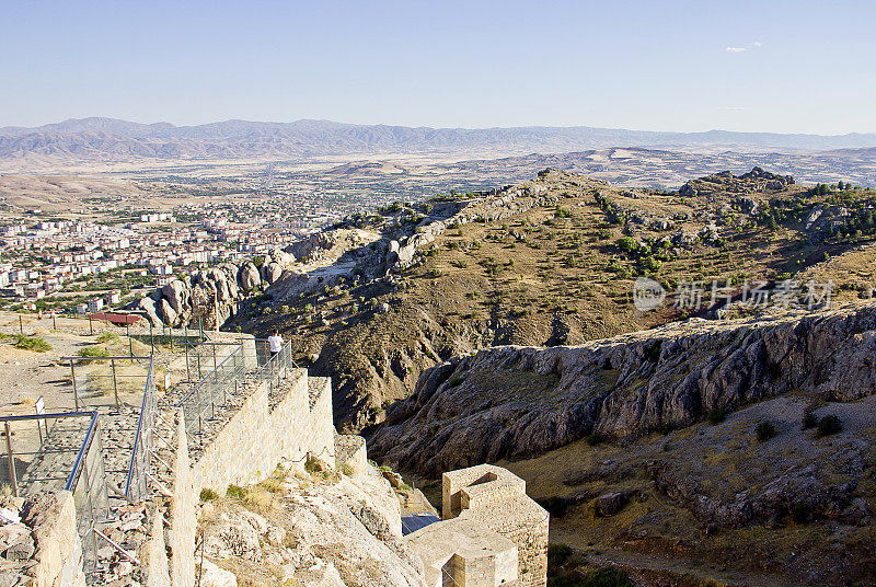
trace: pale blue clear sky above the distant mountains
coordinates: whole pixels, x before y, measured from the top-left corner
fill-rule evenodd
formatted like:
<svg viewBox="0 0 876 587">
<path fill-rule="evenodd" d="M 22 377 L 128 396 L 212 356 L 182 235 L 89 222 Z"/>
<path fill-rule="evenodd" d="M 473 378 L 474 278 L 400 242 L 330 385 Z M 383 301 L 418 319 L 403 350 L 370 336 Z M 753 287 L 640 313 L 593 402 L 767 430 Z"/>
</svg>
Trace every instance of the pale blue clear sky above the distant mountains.
<svg viewBox="0 0 876 587">
<path fill-rule="evenodd" d="M 876 131 L 876 2 L 0 0 L 0 126 Z"/>
</svg>

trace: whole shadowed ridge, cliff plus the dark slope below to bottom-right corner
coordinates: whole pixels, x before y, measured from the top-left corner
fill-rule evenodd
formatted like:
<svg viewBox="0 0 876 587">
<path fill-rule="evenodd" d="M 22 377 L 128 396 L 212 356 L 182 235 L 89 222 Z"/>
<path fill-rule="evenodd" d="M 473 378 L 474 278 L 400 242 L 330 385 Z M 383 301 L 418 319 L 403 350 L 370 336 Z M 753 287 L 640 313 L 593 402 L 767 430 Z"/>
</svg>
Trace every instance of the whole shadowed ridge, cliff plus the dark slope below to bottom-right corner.
<svg viewBox="0 0 876 587">
<path fill-rule="evenodd" d="M 507 467 L 569 572 L 874 585 L 874 357 L 873 302 L 486 348 L 425 371 L 369 452 L 427 493 L 441 470 Z"/>
</svg>

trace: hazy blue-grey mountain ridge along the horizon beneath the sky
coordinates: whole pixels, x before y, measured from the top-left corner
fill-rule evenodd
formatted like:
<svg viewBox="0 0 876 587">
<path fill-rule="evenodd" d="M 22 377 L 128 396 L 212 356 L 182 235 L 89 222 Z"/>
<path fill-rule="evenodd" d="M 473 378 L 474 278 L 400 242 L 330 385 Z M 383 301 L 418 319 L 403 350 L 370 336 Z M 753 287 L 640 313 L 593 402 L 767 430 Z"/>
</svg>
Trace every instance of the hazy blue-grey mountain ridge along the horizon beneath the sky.
<svg viewBox="0 0 876 587">
<path fill-rule="evenodd" d="M 631 146 L 675 149 L 825 151 L 876 147 L 876 134 L 665 133 L 596 127 L 429 128 L 224 120 L 197 126 L 114 118 L 0 128 L 0 161 L 112 162 L 155 159 L 257 159 L 348 153 L 561 152 Z"/>
</svg>

